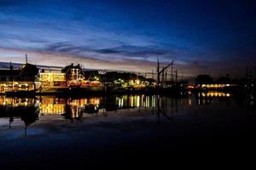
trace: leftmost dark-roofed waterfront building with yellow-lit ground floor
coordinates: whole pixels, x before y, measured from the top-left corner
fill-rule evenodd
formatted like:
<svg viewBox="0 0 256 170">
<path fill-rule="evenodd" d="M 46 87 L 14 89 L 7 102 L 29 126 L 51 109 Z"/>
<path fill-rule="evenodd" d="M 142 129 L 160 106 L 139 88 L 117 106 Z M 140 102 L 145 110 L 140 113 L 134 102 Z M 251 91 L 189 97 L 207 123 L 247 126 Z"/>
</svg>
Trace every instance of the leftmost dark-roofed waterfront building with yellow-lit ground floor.
<svg viewBox="0 0 256 170">
<path fill-rule="evenodd" d="M 28 91 L 36 89 L 38 68 L 36 65 L 22 65 L 15 70 L 10 64 L 8 70 L 0 70 L 0 92 Z"/>
</svg>

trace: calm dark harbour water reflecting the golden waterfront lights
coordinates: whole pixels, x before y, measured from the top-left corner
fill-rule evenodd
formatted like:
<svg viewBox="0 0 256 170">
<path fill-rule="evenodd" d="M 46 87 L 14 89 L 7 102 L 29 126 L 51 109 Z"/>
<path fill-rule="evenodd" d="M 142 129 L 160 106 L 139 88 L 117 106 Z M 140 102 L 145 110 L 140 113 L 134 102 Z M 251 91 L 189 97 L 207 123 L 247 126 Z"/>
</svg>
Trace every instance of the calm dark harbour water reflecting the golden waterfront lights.
<svg viewBox="0 0 256 170">
<path fill-rule="evenodd" d="M 0 96 L 0 169 L 170 166 L 247 156 L 250 162 L 255 114 L 252 100 L 217 92 L 185 98 Z"/>
</svg>

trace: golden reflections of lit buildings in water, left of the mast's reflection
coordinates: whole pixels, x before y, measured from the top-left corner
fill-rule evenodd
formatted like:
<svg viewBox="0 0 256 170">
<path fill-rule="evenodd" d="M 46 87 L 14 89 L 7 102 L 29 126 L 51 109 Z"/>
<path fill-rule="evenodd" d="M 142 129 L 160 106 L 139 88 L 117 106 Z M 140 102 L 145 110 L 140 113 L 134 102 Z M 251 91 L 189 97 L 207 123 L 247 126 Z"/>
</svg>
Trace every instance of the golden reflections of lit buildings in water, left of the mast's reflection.
<svg viewBox="0 0 256 170">
<path fill-rule="evenodd" d="M 108 111 L 119 109 L 152 107 L 156 105 L 156 96 L 121 95 L 90 97 L 83 99 L 38 96 L 38 99 L 0 96 L 0 117 L 22 117 L 26 125 L 38 120 L 38 116 L 63 116 L 71 121 L 82 120 L 93 115 L 105 116 Z M 45 117 L 45 118 L 46 118 Z"/>
</svg>

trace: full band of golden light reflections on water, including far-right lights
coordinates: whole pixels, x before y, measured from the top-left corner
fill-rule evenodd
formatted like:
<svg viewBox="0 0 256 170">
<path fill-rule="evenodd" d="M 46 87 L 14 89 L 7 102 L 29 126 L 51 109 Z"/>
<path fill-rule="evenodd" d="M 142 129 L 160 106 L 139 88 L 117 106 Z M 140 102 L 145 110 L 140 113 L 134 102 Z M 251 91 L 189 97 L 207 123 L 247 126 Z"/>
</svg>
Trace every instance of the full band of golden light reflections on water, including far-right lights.
<svg viewBox="0 0 256 170">
<path fill-rule="evenodd" d="M 87 116 L 108 116 L 112 111 L 125 109 L 151 109 L 152 113 L 177 112 L 196 105 L 229 103 L 232 94 L 208 92 L 191 94 L 185 98 L 158 97 L 157 95 L 111 95 L 84 98 L 60 98 L 56 96 L 36 96 L 35 98 L 11 98 L 0 96 L 0 127 L 12 127 L 17 122 L 25 125 L 40 121 L 40 117 L 60 116 L 63 119 L 82 121 Z M 159 107 L 158 107 L 159 106 Z"/>
</svg>

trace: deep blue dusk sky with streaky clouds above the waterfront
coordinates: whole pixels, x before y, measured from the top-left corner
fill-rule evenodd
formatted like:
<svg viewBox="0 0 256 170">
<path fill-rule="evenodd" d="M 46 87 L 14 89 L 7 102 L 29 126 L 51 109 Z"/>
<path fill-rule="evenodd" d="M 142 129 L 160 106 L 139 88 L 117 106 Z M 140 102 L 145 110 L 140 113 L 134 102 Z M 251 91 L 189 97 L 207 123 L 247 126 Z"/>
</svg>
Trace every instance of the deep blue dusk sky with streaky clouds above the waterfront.
<svg viewBox="0 0 256 170">
<path fill-rule="evenodd" d="M 256 4 L 190 0 L 0 0 L 0 61 L 155 71 L 256 74 Z"/>
</svg>

